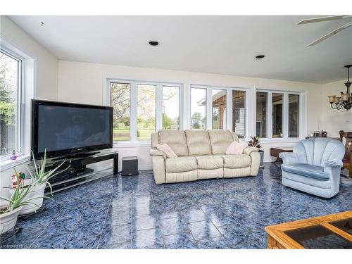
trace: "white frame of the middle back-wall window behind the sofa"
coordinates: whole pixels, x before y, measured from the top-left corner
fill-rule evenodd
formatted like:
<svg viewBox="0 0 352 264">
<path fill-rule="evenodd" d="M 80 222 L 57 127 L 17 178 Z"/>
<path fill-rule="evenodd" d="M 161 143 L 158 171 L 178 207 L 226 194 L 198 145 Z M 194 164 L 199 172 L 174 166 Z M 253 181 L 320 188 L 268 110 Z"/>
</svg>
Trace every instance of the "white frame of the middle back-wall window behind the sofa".
<svg viewBox="0 0 352 264">
<path fill-rule="evenodd" d="M 250 116 L 251 116 L 251 100 L 249 97 L 251 96 L 251 88 L 249 87 L 222 87 L 222 86 L 214 86 L 214 85 L 204 85 L 204 84 L 191 84 L 190 85 L 190 97 L 191 97 L 191 89 L 206 89 L 206 130 L 213 129 L 213 112 L 212 112 L 212 89 L 225 90 L 226 91 L 226 129 L 232 131 L 232 91 L 244 91 L 246 92 L 246 99 L 244 102 L 244 108 L 246 111 L 245 114 L 245 123 L 246 127 L 244 129 L 244 138 L 241 141 L 249 140 L 249 125 L 250 125 Z M 189 100 L 189 127 L 191 127 L 191 99 Z M 191 128 L 189 128 L 191 129 Z"/>
</svg>

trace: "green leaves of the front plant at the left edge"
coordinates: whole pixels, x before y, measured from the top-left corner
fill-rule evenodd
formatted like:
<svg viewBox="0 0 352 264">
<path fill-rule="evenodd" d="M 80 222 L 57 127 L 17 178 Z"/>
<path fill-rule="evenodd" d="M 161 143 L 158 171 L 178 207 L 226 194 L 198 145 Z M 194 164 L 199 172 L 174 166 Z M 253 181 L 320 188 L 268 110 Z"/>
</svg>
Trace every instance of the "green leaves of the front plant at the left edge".
<svg viewBox="0 0 352 264">
<path fill-rule="evenodd" d="M 20 206 L 25 206 L 25 205 L 37 206 L 35 203 L 32 203 L 31 201 L 37 198 L 42 198 L 42 197 L 32 197 L 30 199 L 26 199 L 27 195 L 30 194 L 30 191 L 32 191 L 34 185 L 31 183 L 25 186 L 24 181 L 19 183 L 20 177 L 18 176 L 18 172 L 16 170 L 15 170 L 15 175 L 16 175 L 16 180 L 18 184 L 16 185 L 15 191 L 13 191 L 13 194 L 11 195 L 10 199 L 0 196 L 0 199 L 8 201 L 8 206 L 6 207 L 6 209 L 1 210 L 0 214 L 9 213 L 11 212 L 11 210 L 15 210 Z M 44 196 L 44 198 L 51 199 L 50 197 L 46 197 L 46 196 Z"/>
</svg>

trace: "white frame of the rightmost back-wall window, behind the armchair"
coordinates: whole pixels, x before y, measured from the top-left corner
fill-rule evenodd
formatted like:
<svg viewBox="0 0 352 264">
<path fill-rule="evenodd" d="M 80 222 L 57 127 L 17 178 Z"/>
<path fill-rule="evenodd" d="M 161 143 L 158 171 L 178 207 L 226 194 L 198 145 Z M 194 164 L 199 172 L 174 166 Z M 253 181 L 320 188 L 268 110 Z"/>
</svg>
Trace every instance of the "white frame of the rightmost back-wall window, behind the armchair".
<svg viewBox="0 0 352 264">
<path fill-rule="evenodd" d="M 306 91 L 291 91 L 291 90 L 285 90 L 285 89 L 268 89 L 268 88 L 258 88 L 255 90 L 255 93 L 257 92 L 265 92 L 268 93 L 268 101 L 267 101 L 267 137 L 261 137 L 260 142 L 262 143 L 274 143 L 274 142 L 283 142 L 283 143 L 296 143 L 301 139 L 304 139 L 307 134 L 307 106 L 306 106 Z M 275 94 L 284 94 L 283 98 L 283 115 L 282 117 L 284 120 L 282 120 L 282 125 L 283 127 L 283 133 L 284 137 L 272 137 L 272 93 Z M 289 137 L 289 123 L 288 123 L 288 117 L 289 117 L 289 105 L 288 105 L 288 100 L 289 100 L 289 94 L 297 94 L 299 95 L 299 137 Z M 255 106 L 256 106 L 256 100 L 255 101 Z M 255 109 L 256 113 L 256 109 Z M 256 117 L 256 115 L 255 115 Z M 255 118 L 256 120 L 256 118 Z M 256 121 L 255 121 L 256 122 Z M 256 134 L 256 128 L 254 127 L 253 133 Z M 270 137 L 269 137 L 270 135 Z"/>
</svg>

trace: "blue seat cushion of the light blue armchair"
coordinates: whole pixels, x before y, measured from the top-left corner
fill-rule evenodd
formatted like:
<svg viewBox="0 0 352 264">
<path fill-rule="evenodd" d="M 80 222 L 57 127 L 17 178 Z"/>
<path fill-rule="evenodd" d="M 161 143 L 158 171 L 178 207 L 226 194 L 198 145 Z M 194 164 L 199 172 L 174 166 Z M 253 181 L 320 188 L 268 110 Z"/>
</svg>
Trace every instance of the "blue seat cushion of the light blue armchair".
<svg viewBox="0 0 352 264">
<path fill-rule="evenodd" d="M 324 172 L 324 168 L 320 166 L 304 163 L 292 163 L 287 165 L 282 164 L 281 169 L 286 172 L 311 177 L 317 180 L 329 180 L 329 173 Z"/>
</svg>

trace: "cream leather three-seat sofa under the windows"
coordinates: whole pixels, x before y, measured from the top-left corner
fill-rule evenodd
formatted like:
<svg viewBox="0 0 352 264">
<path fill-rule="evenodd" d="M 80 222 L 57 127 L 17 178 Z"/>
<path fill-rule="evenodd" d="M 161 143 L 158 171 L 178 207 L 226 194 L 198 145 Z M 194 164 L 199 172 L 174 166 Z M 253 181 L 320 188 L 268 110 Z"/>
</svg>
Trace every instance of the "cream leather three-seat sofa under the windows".
<svg viewBox="0 0 352 264">
<path fill-rule="evenodd" d="M 151 134 L 151 160 L 156 184 L 189 182 L 258 174 L 258 149 L 247 147 L 242 154 L 226 155 L 237 134 L 230 130 L 159 130 Z M 157 144 L 168 144 L 177 158 L 167 158 Z"/>
</svg>

